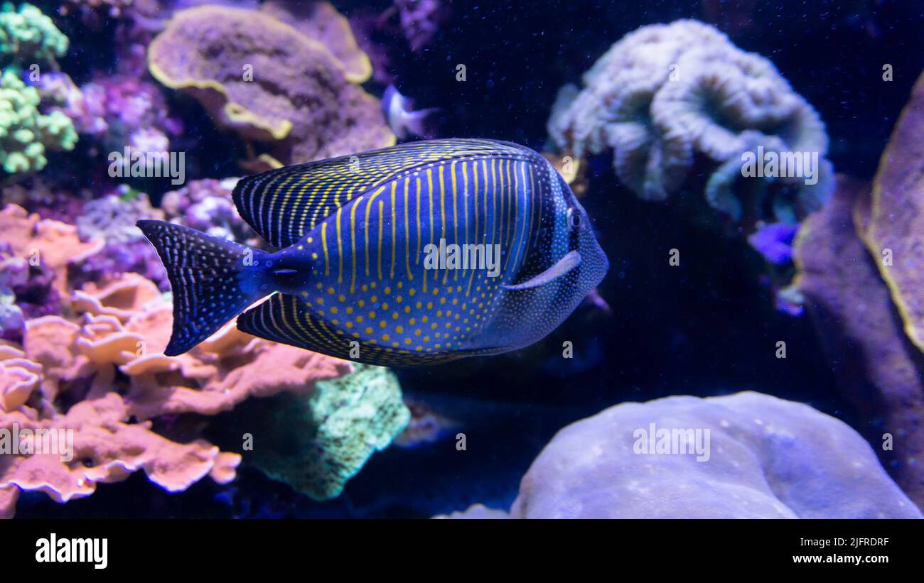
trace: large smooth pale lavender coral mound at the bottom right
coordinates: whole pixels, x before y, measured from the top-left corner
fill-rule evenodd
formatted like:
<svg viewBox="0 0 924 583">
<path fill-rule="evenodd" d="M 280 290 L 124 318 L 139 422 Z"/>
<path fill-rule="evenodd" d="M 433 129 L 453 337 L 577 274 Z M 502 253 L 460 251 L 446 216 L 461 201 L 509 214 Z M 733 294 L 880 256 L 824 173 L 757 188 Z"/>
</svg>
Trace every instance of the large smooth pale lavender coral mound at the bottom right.
<svg viewBox="0 0 924 583">
<path fill-rule="evenodd" d="M 663 430 L 708 430 L 709 455 L 639 448 Z M 533 461 L 510 516 L 921 518 L 844 422 L 754 392 L 623 403 L 568 425 Z"/>
</svg>

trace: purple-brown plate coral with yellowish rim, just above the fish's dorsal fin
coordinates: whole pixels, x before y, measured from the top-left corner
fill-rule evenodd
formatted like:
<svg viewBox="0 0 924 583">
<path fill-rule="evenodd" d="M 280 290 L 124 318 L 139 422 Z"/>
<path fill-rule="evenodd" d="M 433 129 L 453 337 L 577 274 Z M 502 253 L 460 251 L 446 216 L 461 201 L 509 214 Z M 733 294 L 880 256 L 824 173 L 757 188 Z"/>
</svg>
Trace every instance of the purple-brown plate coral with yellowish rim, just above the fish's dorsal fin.
<svg viewBox="0 0 924 583">
<path fill-rule="evenodd" d="M 220 125 L 271 142 L 275 165 L 395 142 L 379 101 L 351 82 L 345 65 L 265 12 L 177 12 L 148 48 L 148 65 L 164 85 L 201 101 Z"/>
</svg>

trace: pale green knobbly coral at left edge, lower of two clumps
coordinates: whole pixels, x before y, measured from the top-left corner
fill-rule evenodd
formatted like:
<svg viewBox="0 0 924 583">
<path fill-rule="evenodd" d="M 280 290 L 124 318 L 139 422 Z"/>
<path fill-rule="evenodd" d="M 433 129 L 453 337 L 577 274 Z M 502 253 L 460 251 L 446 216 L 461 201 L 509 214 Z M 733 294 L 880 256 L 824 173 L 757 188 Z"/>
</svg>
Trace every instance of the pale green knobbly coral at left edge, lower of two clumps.
<svg viewBox="0 0 924 583">
<path fill-rule="evenodd" d="M 74 149 L 77 131 L 61 112 L 40 113 L 38 89 L 26 85 L 15 69 L 0 79 L 0 166 L 6 173 L 38 172 L 45 149 Z"/>
</svg>

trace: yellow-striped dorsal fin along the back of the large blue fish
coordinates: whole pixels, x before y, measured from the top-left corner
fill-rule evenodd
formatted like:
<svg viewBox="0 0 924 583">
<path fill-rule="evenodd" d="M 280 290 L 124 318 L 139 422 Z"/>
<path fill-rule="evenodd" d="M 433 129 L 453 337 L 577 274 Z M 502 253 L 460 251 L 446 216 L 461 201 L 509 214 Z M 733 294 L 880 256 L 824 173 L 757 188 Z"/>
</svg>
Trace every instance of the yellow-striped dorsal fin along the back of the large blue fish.
<svg viewBox="0 0 924 583">
<path fill-rule="evenodd" d="M 490 139 L 410 142 L 287 166 L 238 181 L 234 202 L 240 216 L 277 248 L 295 244 L 314 225 L 351 199 L 401 173 L 440 161 L 493 155 L 527 155 L 517 144 Z"/>
</svg>

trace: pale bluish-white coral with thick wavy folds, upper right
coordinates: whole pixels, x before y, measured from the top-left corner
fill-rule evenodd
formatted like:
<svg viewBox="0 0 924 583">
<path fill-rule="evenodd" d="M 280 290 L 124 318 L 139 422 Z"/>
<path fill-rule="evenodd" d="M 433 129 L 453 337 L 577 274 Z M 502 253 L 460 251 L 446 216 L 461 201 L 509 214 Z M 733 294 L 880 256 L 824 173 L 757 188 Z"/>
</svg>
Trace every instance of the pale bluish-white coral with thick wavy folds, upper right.
<svg viewBox="0 0 924 583">
<path fill-rule="evenodd" d="M 583 85 L 559 93 L 549 133 L 578 158 L 612 148 L 616 175 L 638 196 L 675 193 L 697 157 L 718 165 L 707 200 L 736 221 L 795 220 L 830 194 L 818 113 L 769 60 L 739 50 L 711 26 L 678 20 L 631 32 L 584 74 Z M 818 183 L 783 177 L 742 185 L 741 157 L 758 147 L 816 152 Z"/>
</svg>

